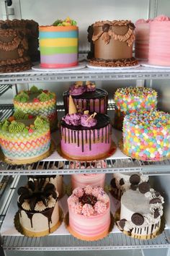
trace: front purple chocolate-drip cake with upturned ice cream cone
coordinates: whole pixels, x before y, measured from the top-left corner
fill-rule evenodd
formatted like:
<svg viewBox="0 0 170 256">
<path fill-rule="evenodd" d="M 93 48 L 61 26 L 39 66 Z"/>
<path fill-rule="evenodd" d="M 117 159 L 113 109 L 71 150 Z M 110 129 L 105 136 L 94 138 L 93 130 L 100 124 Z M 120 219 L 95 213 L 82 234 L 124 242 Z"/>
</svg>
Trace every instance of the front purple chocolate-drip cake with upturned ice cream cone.
<svg viewBox="0 0 170 256">
<path fill-rule="evenodd" d="M 61 120 L 61 152 L 66 158 L 81 161 L 104 158 L 112 145 L 112 127 L 105 114 L 77 113 L 69 96 L 69 111 Z"/>
</svg>

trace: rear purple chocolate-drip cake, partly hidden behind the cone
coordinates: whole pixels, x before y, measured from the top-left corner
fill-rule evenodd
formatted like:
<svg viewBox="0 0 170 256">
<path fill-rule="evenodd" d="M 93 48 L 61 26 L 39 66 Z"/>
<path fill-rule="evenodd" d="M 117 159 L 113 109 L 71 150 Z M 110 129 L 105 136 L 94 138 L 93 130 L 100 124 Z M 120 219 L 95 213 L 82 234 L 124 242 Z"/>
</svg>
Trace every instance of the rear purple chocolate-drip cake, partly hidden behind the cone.
<svg viewBox="0 0 170 256">
<path fill-rule="evenodd" d="M 63 102 L 66 114 L 68 114 L 69 95 L 72 96 L 78 111 L 89 110 L 107 114 L 108 93 L 106 90 L 96 88 L 94 82 L 78 81 L 71 85 L 70 89 L 63 93 Z"/>
</svg>

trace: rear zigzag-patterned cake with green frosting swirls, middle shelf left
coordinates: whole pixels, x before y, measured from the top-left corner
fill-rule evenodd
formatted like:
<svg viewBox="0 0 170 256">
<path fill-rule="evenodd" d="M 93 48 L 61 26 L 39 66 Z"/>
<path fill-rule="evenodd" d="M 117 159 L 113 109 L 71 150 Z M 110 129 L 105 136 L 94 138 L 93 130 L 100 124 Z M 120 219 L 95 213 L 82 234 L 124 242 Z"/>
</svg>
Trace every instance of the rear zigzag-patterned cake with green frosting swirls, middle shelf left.
<svg viewBox="0 0 170 256">
<path fill-rule="evenodd" d="M 22 90 L 14 97 L 14 110 L 35 116 L 47 116 L 50 129 L 57 128 L 56 95 L 48 90 L 39 90 L 36 86 L 32 86 L 30 90 Z"/>
</svg>

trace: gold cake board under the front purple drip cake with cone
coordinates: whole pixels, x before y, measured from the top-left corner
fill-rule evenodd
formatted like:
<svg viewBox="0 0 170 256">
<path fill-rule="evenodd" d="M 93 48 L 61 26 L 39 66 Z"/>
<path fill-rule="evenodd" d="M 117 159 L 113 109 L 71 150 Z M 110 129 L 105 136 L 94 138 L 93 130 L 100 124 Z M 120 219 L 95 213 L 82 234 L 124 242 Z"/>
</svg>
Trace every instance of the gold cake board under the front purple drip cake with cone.
<svg viewBox="0 0 170 256">
<path fill-rule="evenodd" d="M 105 154 L 99 155 L 99 157 L 94 157 L 94 156 L 84 156 L 84 157 L 79 157 L 79 156 L 73 156 L 73 155 L 66 155 L 63 153 L 61 150 L 61 143 L 57 145 L 57 151 L 58 154 L 61 155 L 62 158 L 66 158 L 67 160 L 76 160 L 76 161 L 98 161 L 98 160 L 105 160 L 106 158 L 109 158 L 111 155 L 115 154 L 117 150 L 117 146 L 115 142 L 112 141 L 111 147 L 109 151 Z"/>
</svg>

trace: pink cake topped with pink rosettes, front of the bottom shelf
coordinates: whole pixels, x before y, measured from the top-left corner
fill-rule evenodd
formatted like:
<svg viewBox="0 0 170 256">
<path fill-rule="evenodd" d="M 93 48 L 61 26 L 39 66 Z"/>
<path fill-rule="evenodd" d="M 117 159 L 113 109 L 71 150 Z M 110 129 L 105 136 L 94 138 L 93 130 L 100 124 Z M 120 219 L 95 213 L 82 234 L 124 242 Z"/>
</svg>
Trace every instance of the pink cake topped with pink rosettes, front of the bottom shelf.
<svg viewBox="0 0 170 256">
<path fill-rule="evenodd" d="M 101 187 L 76 188 L 68 197 L 68 231 L 81 240 L 107 236 L 110 226 L 109 197 Z"/>
</svg>

